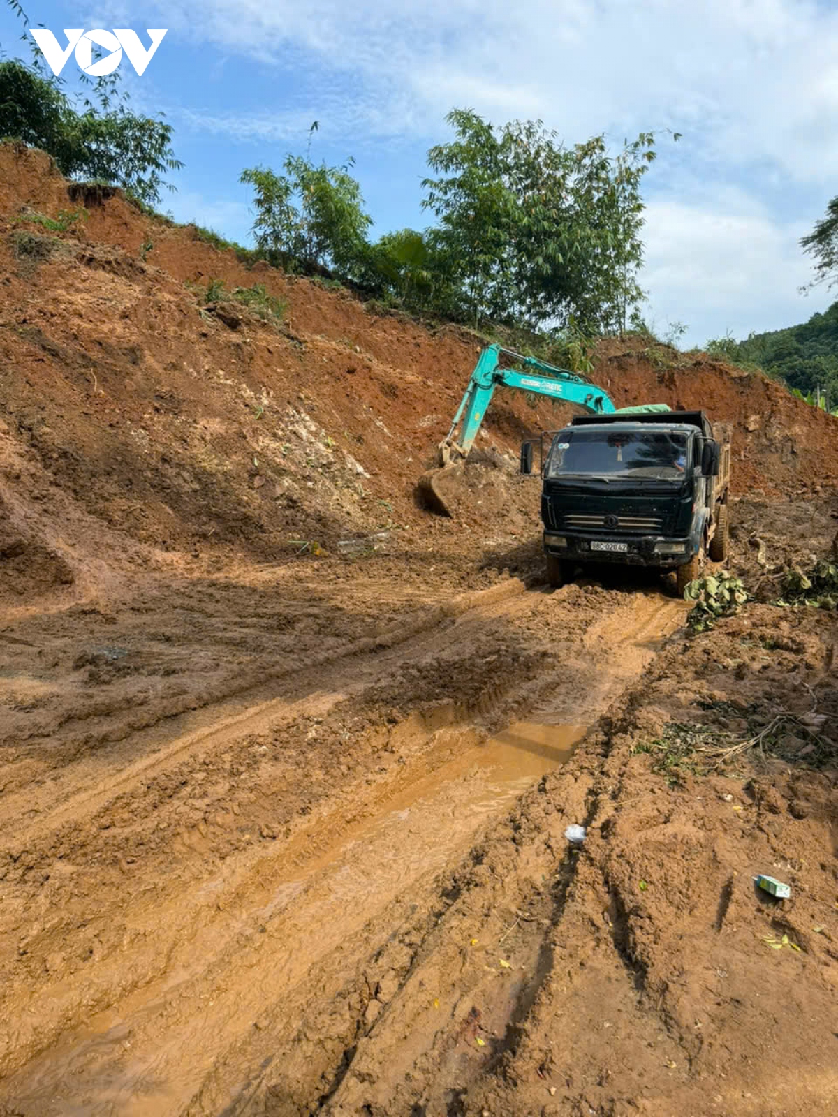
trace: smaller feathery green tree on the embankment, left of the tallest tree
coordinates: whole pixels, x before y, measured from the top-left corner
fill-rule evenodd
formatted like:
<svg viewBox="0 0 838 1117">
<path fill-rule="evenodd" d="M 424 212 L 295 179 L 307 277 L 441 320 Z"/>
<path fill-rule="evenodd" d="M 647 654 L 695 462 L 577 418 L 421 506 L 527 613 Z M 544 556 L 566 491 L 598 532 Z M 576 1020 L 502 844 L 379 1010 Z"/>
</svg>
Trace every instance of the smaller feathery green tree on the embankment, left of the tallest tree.
<svg viewBox="0 0 838 1117">
<path fill-rule="evenodd" d="M 241 172 L 255 191 L 257 248 L 292 270 L 332 267 L 352 278 L 372 225 L 359 183 L 347 168 L 315 166 L 299 155 L 288 155 L 283 169 L 285 174 L 261 166 Z"/>
</svg>

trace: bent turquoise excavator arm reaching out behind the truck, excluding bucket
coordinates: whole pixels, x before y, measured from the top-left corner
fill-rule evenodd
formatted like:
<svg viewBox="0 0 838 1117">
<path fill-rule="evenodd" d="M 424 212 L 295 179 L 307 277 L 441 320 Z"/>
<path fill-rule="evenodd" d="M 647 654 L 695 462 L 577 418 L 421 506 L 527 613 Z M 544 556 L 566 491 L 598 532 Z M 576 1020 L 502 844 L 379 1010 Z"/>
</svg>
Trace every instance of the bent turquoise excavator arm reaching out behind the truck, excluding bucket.
<svg viewBox="0 0 838 1117">
<path fill-rule="evenodd" d="M 546 375 L 533 375 L 520 369 L 501 369 L 502 354 L 512 357 L 517 365 L 537 370 Z M 477 431 L 486 416 L 486 409 L 492 402 L 495 389 L 498 386 L 514 388 L 521 392 L 532 392 L 534 395 L 545 395 L 549 399 L 562 400 L 565 403 L 578 403 L 592 414 L 610 414 L 615 410 L 607 392 L 597 388 L 584 376 L 566 369 L 556 369 L 552 364 L 539 361 L 534 356 L 522 356 L 501 345 L 488 345 L 480 356 L 468 381 L 468 386 L 457 408 L 451 429 L 439 446 L 439 464 L 449 465 L 456 457 L 465 458 L 474 445 Z M 459 437 L 456 437 L 457 428 Z"/>
</svg>

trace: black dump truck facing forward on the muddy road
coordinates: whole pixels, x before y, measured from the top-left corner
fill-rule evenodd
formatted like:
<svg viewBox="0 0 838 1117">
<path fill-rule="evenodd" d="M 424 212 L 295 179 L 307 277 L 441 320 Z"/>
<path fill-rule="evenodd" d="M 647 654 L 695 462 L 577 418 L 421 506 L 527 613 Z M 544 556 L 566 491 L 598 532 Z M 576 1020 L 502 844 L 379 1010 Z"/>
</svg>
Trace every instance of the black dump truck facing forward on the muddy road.
<svg viewBox="0 0 838 1117">
<path fill-rule="evenodd" d="M 705 554 L 726 558 L 730 429 L 704 412 L 580 416 L 525 442 L 523 472 L 536 446 L 551 584 L 608 562 L 674 570 L 683 593 Z"/>
</svg>

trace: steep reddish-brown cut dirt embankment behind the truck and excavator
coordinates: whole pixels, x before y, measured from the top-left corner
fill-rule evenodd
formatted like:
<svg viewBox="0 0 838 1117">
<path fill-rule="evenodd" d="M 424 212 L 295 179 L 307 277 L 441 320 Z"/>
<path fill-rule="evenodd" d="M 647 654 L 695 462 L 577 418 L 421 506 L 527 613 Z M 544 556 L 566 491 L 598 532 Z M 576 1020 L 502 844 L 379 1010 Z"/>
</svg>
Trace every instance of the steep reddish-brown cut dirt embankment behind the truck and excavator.
<svg viewBox="0 0 838 1117">
<path fill-rule="evenodd" d="M 31 220 L 85 201 L 89 216 L 65 232 Z M 82 576 L 85 550 L 141 566 L 231 552 L 276 561 L 314 544 L 334 553 L 358 536 L 422 550 L 496 536 L 501 522 L 507 534 L 530 531 L 536 483 L 497 469 L 480 470 L 482 495 L 459 525 L 417 506 L 417 477 L 477 354 L 463 331 L 370 313 L 347 292 L 265 265 L 247 270 L 118 193 L 74 200 L 46 156 L 9 145 L 0 273 L 10 439 L 0 547 L 46 547 L 59 585 Z M 207 307 L 213 280 L 227 290 L 264 284 L 286 302 L 283 323 L 240 304 Z M 838 476 L 838 421 L 762 376 L 678 360 L 660 370 L 659 354 L 609 343 L 596 379 L 618 404 L 703 407 L 733 421 L 736 491 L 790 494 Z M 515 451 L 565 411 L 499 392 L 479 445 Z M 74 543 L 49 528 L 68 518 Z M 6 592 L 20 591 L 16 567 L 3 570 Z"/>
</svg>

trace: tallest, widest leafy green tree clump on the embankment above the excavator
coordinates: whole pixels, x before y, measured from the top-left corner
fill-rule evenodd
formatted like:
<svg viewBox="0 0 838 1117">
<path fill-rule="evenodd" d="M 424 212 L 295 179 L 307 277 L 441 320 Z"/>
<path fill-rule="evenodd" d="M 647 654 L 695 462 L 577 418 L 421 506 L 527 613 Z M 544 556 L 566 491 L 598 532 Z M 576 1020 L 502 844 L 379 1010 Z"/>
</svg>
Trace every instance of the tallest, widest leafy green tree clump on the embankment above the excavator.
<svg viewBox="0 0 838 1117">
<path fill-rule="evenodd" d="M 565 147 L 541 121 L 496 128 L 470 109 L 447 120 L 455 139 L 428 153 L 437 178 L 422 183 L 423 206 L 473 319 L 622 328 L 642 295 L 639 188 L 653 134 L 615 157 L 603 136 Z"/>
</svg>

